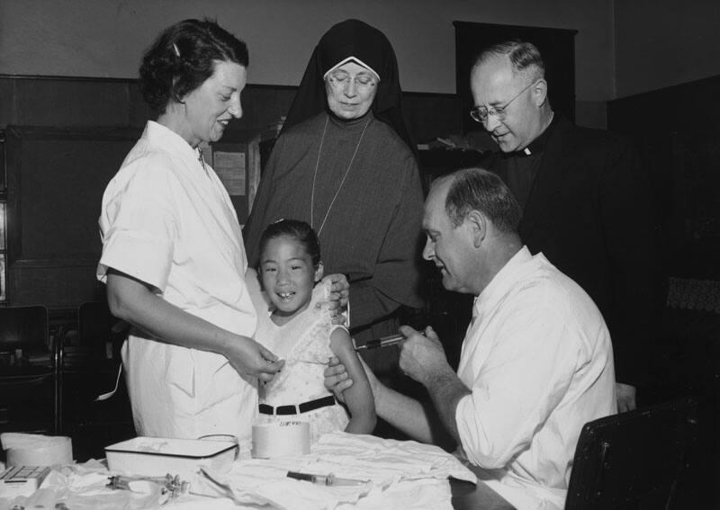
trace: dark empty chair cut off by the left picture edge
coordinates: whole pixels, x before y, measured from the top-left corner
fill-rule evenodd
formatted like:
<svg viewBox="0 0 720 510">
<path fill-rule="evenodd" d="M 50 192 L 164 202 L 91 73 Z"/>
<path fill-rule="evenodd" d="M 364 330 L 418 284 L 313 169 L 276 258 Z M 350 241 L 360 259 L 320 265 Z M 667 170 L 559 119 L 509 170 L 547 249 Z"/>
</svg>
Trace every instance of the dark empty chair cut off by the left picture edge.
<svg viewBox="0 0 720 510">
<path fill-rule="evenodd" d="M 0 426 L 55 433 L 58 405 L 58 350 L 49 341 L 48 309 L 0 308 Z"/>
</svg>

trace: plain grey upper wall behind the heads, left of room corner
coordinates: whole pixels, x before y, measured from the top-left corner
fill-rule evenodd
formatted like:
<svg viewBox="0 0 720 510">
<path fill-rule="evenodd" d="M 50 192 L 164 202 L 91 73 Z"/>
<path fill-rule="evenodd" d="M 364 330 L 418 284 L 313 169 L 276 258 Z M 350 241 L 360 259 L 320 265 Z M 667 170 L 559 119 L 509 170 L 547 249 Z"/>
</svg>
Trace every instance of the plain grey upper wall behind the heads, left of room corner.
<svg viewBox="0 0 720 510">
<path fill-rule="evenodd" d="M 246 40 L 252 84 L 298 85 L 320 35 L 349 17 L 391 40 L 410 92 L 455 93 L 453 21 L 578 30 L 579 101 L 613 91 L 613 0 L 0 0 L 0 74 L 135 77 L 157 32 L 216 18 Z"/>
</svg>

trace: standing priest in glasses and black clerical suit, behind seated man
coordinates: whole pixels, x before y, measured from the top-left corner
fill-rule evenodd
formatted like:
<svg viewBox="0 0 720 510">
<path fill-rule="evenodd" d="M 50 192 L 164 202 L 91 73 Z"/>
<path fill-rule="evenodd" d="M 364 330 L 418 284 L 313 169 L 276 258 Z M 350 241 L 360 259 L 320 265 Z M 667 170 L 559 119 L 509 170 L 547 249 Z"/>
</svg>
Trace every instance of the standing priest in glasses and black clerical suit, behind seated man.
<svg viewBox="0 0 720 510">
<path fill-rule="evenodd" d="M 634 409 L 637 389 L 649 382 L 666 296 L 658 215 L 635 150 L 553 112 L 543 58 L 531 43 L 485 49 L 470 85 L 473 120 L 500 147 L 483 166 L 518 199 L 520 237 L 532 253 L 542 252 L 598 305 L 612 338 L 618 410 Z"/>
</svg>

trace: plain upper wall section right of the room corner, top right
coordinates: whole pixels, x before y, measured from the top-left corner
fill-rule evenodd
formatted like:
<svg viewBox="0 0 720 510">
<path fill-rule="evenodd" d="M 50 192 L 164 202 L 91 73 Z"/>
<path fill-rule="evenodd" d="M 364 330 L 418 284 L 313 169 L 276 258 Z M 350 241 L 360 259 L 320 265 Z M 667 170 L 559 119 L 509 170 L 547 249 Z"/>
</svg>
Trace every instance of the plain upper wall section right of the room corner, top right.
<svg viewBox="0 0 720 510">
<path fill-rule="evenodd" d="M 617 97 L 720 75 L 719 0 L 616 0 Z"/>
</svg>

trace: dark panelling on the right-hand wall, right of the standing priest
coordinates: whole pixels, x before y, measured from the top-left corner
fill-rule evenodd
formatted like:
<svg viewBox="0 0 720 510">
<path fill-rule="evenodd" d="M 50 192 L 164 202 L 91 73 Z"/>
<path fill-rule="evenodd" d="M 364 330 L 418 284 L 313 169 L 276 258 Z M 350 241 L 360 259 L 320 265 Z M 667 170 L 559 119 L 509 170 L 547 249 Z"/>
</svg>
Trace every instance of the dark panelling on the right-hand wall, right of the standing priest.
<svg viewBox="0 0 720 510">
<path fill-rule="evenodd" d="M 635 139 L 662 208 L 673 276 L 720 280 L 720 76 L 608 103 Z"/>
</svg>

